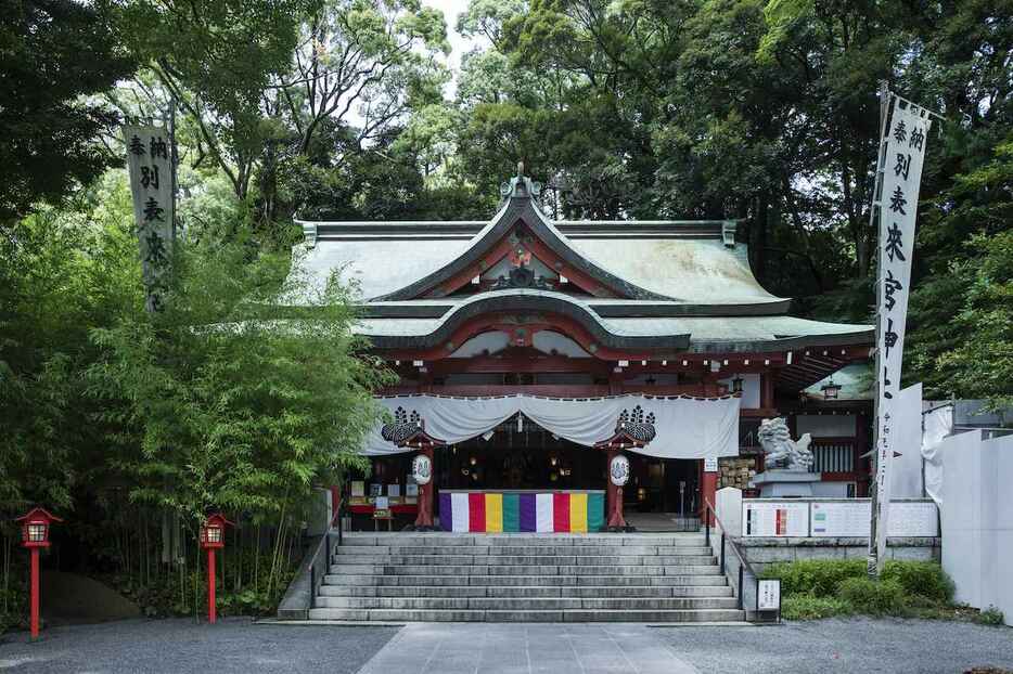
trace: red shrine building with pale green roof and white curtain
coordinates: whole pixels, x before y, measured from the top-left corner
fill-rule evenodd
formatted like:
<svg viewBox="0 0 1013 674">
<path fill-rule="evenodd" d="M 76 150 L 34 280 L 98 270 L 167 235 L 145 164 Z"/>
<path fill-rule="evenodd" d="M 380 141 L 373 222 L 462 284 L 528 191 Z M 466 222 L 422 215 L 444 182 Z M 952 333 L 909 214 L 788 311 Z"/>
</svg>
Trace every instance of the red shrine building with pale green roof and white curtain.
<svg viewBox="0 0 1013 674">
<path fill-rule="evenodd" d="M 302 223 L 299 272 L 357 285 L 399 375 L 355 529 L 694 529 L 720 487 L 748 495 L 777 416 L 812 436 L 817 493 L 865 493 L 871 410 L 811 391 L 872 326 L 788 315 L 733 221 L 551 220 L 538 183 L 501 191 L 488 222 Z"/>
</svg>

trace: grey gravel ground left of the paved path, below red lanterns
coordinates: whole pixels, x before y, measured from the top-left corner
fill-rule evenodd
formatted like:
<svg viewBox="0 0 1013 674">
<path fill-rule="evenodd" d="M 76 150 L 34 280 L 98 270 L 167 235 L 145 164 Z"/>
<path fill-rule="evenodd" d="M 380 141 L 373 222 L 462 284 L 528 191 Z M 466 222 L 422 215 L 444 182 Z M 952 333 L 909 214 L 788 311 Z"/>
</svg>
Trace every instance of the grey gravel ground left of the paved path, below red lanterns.
<svg viewBox="0 0 1013 674">
<path fill-rule="evenodd" d="M 351 674 L 398 627 L 256 625 L 229 618 L 216 625 L 191 619 L 129 620 L 53 627 L 43 639 L 0 637 L 0 672 L 31 674 Z"/>
</svg>

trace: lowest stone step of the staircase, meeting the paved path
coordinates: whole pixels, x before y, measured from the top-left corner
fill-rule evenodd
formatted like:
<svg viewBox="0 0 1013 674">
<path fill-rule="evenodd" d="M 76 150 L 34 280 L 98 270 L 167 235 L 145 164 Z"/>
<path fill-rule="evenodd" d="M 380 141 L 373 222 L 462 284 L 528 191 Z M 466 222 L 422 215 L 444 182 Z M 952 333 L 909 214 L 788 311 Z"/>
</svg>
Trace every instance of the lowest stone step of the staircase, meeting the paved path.
<svg viewBox="0 0 1013 674">
<path fill-rule="evenodd" d="M 429 610 L 334 609 L 309 610 L 310 620 L 384 622 L 741 622 L 736 609 L 563 609 L 563 610 Z"/>
</svg>

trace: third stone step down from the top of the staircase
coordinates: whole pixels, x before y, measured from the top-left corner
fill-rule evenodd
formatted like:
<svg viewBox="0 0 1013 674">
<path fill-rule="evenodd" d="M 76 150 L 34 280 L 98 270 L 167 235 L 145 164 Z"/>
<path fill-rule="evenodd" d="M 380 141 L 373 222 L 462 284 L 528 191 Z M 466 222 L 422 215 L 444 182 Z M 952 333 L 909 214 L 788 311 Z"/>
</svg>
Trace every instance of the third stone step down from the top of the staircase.
<svg viewBox="0 0 1013 674">
<path fill-rule="evenodd" d="M 573 548 L 572 548 L 573 549 Z M 384 566 L 704 566 L 717 563 L 713 555 L 334 555 L 332 565 Z"/>
</svg>

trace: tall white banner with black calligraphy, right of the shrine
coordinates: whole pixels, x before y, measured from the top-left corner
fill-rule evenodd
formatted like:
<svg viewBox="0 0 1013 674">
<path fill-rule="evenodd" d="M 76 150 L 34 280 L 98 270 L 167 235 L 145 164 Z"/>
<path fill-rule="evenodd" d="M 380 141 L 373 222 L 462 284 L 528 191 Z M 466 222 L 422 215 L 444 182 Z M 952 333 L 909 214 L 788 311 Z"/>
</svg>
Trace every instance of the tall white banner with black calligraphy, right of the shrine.
<svg viewBox="0 0 1013 674">
<path fill-rule="evenodd" d="M 911 285 L 911 257 L 914 251 L 914 217 L 922 179 L 922 163 L 928 139 L 929 119 L 925 111 L 894 99 L 886 152 L 881 155 L 883 186 L 880 196 L 880 306 L 876 348 L 880 353 L 879 424 L 876 439 L 876 550 L 886 558 L 889 503 L 889 467 L 894 458 L 890 433 L 900 396 L 900 367 L 903 355 L 905 323 Z"/>
</svg>

